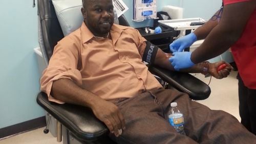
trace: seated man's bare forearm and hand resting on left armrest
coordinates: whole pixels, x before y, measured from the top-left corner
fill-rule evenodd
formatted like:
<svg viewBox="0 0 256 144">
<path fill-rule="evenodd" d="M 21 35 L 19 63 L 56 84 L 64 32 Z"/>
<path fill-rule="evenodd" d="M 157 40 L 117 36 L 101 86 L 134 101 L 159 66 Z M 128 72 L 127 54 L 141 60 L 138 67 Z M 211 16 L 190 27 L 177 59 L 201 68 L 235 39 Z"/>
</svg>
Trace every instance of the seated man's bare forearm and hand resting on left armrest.
<svg viewBox="0 0 256 144">
<path fill-rule="evenodd" d="M 95 116 L 116 136 L 120 135 L 118 130 L 125 129 L 124 118 L 116 105 L 82 89 L 72 80 L 63 78 L 54 81 L 51 95 L 53 95 L 55 99 L 66 103 L 91 108 Z"/>
</svg>

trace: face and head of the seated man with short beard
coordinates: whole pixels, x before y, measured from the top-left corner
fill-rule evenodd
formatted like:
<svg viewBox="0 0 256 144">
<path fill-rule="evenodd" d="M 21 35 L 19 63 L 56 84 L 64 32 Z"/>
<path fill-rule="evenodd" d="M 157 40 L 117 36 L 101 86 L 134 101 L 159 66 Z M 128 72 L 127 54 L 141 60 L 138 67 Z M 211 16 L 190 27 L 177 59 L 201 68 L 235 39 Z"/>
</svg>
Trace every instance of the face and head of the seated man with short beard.
<svg viewBox="0 0 256 144">
<path fill-rule="evenodd" d="M 86 0 L 82 15 L 86 26 L 95 36 L 106 36 L 114 23 L 112 0 Z"/>
</svg>

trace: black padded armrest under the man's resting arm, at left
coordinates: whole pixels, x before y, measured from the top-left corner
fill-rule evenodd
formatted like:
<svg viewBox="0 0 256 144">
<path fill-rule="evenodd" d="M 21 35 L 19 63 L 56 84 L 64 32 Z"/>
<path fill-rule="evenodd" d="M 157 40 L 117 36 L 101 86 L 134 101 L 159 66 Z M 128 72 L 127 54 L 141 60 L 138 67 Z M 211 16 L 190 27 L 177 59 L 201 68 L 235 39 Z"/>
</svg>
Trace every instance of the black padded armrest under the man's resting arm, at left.
<svg viewBox="0 0 256 144">
<path fill-rule="evenodd" d="M 56 104 L 48 101 L 46 93 L 40 92 L 36 102 L 64 125 L 72 135 L 83 142 L 102 141 L 109 133 L 108 128 L 95 117 L 92 110 L 87 107 L 72 104 Z M 100 142 L 101 143 L 101 142 Z"/>
</svg>

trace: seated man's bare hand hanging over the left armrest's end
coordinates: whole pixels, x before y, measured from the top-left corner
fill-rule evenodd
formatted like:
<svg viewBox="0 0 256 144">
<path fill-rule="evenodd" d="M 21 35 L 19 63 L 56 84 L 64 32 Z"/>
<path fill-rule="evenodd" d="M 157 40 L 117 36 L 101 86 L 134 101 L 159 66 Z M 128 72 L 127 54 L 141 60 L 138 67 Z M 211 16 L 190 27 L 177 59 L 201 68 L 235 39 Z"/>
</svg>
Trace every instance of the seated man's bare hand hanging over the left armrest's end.
<svg viewBox="0 0 256 144">
<path fill-rule="evenodd" d="M 114 133 L 116 137 L 122 134 L 122 130 L 125 129 L 125 122 L 123 115 L 115 104 L 101 99 L 97 102 L 97 105 L 92 107 L 92 110 L 95 116 L 109 128 L 111 133 Z"/>
</svg>

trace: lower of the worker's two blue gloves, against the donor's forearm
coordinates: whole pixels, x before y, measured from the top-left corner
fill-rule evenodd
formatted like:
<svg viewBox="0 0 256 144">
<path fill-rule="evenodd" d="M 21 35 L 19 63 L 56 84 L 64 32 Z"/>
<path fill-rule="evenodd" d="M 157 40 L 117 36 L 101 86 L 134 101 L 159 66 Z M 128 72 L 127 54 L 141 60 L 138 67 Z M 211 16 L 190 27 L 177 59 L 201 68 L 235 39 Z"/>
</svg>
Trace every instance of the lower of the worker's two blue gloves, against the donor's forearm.
<svg viewBox="0 0 256 144">
<path fill-rule="evenodd" d="M 188 68 L 195 63 L 191 61 L 191 52 L 175 52 L 173 57 L 169 58 L 175 70 L 180 70 L 182 68 Z"/>
</svg>

